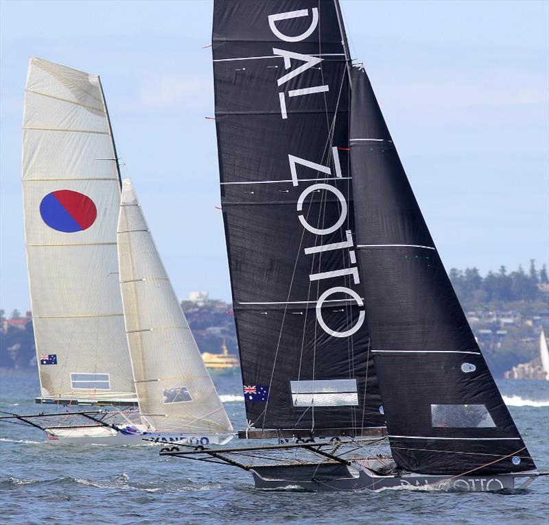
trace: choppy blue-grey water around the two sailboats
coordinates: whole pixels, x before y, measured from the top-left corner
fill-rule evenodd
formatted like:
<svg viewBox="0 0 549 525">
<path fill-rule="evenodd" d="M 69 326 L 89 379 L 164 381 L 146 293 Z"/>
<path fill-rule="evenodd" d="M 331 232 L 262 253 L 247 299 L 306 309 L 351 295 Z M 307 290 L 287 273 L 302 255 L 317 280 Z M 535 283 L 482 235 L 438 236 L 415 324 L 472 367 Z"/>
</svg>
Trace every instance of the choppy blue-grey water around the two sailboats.
<svg viewBox="0 0 549 525">
<path fill-rule="evenodd" d="M 240 374 L 214 376 L 235 428 Z M 526 445 L 549 469 L 549 384 L 499 383 Z M 34 374 L 0 376 L 0 410 L 38 413 Z M 161 459 L 158 447 L 56 446 L 43 432 L 0 425 L 5 524 L 547 524 L 549 476 L 513 495 L 384 491 L 264 492 L 240 469 Z"/>
</svg>

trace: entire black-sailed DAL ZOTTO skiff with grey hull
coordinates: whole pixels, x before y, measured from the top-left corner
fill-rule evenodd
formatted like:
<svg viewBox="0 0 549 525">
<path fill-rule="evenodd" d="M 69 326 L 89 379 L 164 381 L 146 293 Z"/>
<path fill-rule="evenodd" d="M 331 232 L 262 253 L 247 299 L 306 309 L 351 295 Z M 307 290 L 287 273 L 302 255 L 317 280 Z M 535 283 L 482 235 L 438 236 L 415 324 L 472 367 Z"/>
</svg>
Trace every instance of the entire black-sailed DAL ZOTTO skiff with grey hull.
<svg viewBox="0 0 549 525">
<path fill-rule="evenodd" d="M 250 470 L 259 488 L 494 491 L 539 476 L 338 1 L 215 0 L 213 71 L 240 437 L 279 444 L 162 454 Z"/>
</svg>

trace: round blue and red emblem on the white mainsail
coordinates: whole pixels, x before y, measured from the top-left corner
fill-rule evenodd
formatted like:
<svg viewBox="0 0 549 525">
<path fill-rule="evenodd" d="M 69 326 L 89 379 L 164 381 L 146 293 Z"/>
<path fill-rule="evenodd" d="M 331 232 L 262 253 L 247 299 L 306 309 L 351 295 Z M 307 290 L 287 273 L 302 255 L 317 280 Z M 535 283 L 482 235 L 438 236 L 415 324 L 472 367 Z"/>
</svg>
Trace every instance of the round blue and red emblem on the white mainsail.
<svg viewBox="0 0 549 525">
<path fill-rule="evenodd" d="M 97 208 L 87 195 L 72 190 L 48 193 L 40 202 L 42 220 L 58 232 L 87 230 L 97 218 Z"/>
</svg>

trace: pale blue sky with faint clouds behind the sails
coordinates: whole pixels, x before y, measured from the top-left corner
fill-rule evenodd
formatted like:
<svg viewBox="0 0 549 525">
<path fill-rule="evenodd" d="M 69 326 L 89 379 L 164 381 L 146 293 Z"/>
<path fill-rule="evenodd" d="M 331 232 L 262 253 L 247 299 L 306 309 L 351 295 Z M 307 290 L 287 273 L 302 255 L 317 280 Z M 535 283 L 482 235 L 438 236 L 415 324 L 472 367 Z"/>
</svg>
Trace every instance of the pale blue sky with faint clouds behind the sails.
<svg viewBox="0 0 549 525">
<path fill-rule="evenodd" d="M 342 0 L 447 270 L 549 260 L 549 2 Z M 30 308 L 21 197 L 28 59 L 100 74 L 178 297 L 230 300 L 211 1 L 0 1 L 0 308 Z"/>
</svg>

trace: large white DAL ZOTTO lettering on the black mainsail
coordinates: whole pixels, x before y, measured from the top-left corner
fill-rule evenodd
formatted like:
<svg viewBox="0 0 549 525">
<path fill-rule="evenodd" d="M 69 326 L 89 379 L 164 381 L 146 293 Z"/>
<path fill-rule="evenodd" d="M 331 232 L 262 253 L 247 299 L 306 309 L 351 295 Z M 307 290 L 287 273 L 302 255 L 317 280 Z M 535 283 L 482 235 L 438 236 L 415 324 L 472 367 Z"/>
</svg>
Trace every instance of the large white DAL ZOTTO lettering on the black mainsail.
<svg viewBox="0 0 549 525">
<path fill-rule="evenodd" d="M 288 20 L 288 19 L 299 19 L 303 17 L 310 17 L 311 22 L 307 29 L 305 29 L 301 34 L 297 36 L 290 36 L 287 34 L 284 34 L 281 32 L 279 27 L 277 26 L 277 23 L 282 20 Z M 280 40 L 283 40 L 283 42 L 301 42 L 301 40 L 304 40 L 307 38 L 307 36 L 310 36 L 314 29 L 318 26 L 318 9 L 312 8 L 309 12 L 307 9 L 297 10 L 297 11 L 290 11 L 290 12 L 284 12 L 284 13 L 278 13 L 278 14 L 270 14 L 268 16 L 268 23 L 270 30 L 272 31 L 272 34 L 279 38 Z M 279 88 L 281 88 L 281 91 L 279 91 L 279 101 L 280 101 L 280 110 L 281 110 L 281 116 L 283 119 L 288 119 L 288 112 L 286 109 L 286 95 L 288 97 L 305 97 L 309 95 L 315 95 L 317 93 L 325 93 L 326 91 L 329 91 L 328 85 L 323 86 L 308 86 L 306 88 L 301 89 L 294 89 L 289 90 L 287 93 L 285 91 L 285 84 L 288 82 L 288 80 L 297 77 L 299 75 L 302 75 L 305 71 L 308 69 L 316 66 L 316 64 L 322 62 L 322 58 L 311 56 L 311 55 L 304 55 L 303 53 L 296 53 L 294 51 L 290 51 L 288 49 L 278 49 L 277 47 L 272 48 L 272 53 L 275 56 L 281 56 L 284 59 L 284 69 L 290 70 L 287 71 L 283 76 L 279 77 L 277 80 L 277 84 Z M 294 61 L 294 69 L 292 69 L 292 60 Z M 331 149 L 333 160 L 334 160 L 334 170 L 335 170 L 335 178 L 341 178 L 341 169 L 340 169 L 340 162 L 338 158 L 338 148 L 332 147 Z M 313 170 L 316 173 L 325 173 L 327 177 L 331 178 L 333 176 L 331 168 L 324 166 L 323 164 L 318 164 L 317 162 L 312 162 L 311 160 L 301 158 L 299 156 L 294 156 L 288 154 L 288 160 L 290 162 L 290 173 L 292 174 L 292 184 L 294 186 L 299 186 L 299 176 L 297 173 L 297 167 L 302 166 L 303 168 L 307 168 L 310 170 Z M 303 169 L 301 168 L 301 169 Z M 310 180 L 312 176 L 307 175 L 307 179 Z M 307 219 L 305 216 L 301 213 L 303 211 L 303 203 L 305 202 L 305 199 L 308 195 L 316 192 L 316 191 L 325 191 L 329 192 L 332 195 L 338 199 L 340 203 L 340 215 L 338 219 L 330 225 L 327 225 L 325 228 L 316 228 L 310 223 L 307 222 Z M 307 230 L 308 232 L 311 232 L 315 235 L 328 235 L 331 233 L 336 232 L 341 226 L 347 221 L 347 212 L 349 210 L 349 206 L 347 205 L 347 200 L 345 199 L 344 195 L 341 193 L 341 191 L 336 188 L 336 186 L 332 186 L 331 184 L 325 184 L 325 183 L 317 183 L 312 184 L 311 186 L 307 186 L 299 196 L 299 199 L 297 200 L 297 212 L 298 212 L 298 219 L 303 225 L 303 228 Z M 312 273 L 309 275 L 309 280 L 311 281 L 319 281 L 324 279 L 335 279 L 340 278 L 344 280 L 346 276 L 351 276 L 353 278 L 353 282 L 355 284 L 358 284 L 360 282 L 360 278 L 358 276 L 358 267 L 356 266 L 356 256 L 355 252 L 351 247 L 353 247 L 353 236 L 351 234 L 350 230 L 347 230 L 345 232 L 346 240 L 342 241 L 340 243 L 331 243 L 331 244 L 325 244 L 320 246 L 314 246 L 314 247 L 308 247 L 305 248 L 305 254 L 311 255 L 311 254 L 318 254 L 321 252 L 329 252 L 330 250 L 334 249 L 349 249 L 349 261 L 351 262 L 351 265 L 349 268 L 342 268 L 339 270 L 334 271 L 325 271 L 321 273 Z M 337 297 L 334 297 L 336 296 Z M 345 301 L 351 301 L 356 302 L 358 306 L 361 308 L 364 308 L 364 302 L 362 301 L 362 298 L 358 293 L 351 290 L 347 286 L 333 286 L 332 288 L 325 291 L 320 297 L 318 297 L 318 300 L 316 302 L 316 319 L 318 321 L 318 324 L 322 327 L 322 329 L 334 337 L 349 337 L 357 330 L 360 329 L 362 326 L 362 323 L 364 323 L 364 318 L 366 317 L 364 310 L 360 310 L 360 313 L 358 315 L 358 319 L 355 322 L 355 324 L 349 328 L 349 330 L 333 330 L 327 324 L 325 323 L 322 315 L 322 308 L 323 304 L 329 300 L 337 299 L 338 297 L 341 297 L 341 295 L 347 296 L 345 297 Z M 331 299 L 330 299 L 331 298 Z"/>
</svg>

